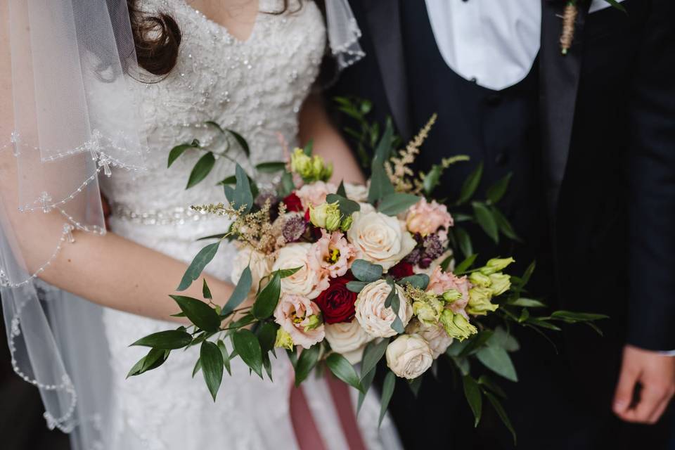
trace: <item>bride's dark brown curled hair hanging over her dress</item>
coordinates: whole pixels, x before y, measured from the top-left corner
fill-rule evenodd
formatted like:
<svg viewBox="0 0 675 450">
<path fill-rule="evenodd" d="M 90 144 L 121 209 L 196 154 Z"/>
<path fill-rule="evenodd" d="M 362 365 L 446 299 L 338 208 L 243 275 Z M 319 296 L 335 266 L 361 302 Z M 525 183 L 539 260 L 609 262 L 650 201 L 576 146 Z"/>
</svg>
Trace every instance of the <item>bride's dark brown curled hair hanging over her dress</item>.
<svg viewBox="0 0 675 450">
<path fill-rule="evenodd" d="M 288 11 L 289 1 L 283 0 L 280 11 L 266 13 L 285 13 Z M 298 4 L 298 9 L 302 8 L 302 0 L 298 0 Z M 182 39 L 181 28 L 167 13 L 143 13 L 139 8 L 139 0 L 127 0 L 127 8 L 139 66 L 153 75 L 167 75 L 176 65 Z"/>
</svg>

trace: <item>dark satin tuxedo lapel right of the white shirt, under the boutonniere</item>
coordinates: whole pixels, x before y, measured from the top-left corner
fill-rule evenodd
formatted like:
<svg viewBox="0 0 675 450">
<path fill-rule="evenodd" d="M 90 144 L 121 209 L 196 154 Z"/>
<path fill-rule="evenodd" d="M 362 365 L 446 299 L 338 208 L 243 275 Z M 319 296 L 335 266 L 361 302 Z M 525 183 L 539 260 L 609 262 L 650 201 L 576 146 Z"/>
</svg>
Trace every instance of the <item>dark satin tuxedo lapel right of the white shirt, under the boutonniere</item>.
<svg viewBox="0 0 675 450">
<path fill-rule="evenodd" d="M 540 49 L 540 110 L 544 162 L 548 172 L 548 200 L 555 210 L 560 184 L 565 176 L 570 153 L 574 107 L 579 88 L 581 53 L 586 16 L 590 2 L 577 2 L 579 14 L 574 32 L 574 44 L 567 55 L 560 53 L 560 32 L 563 29 L 565 1 L 542 0 Z"/>
</svg>

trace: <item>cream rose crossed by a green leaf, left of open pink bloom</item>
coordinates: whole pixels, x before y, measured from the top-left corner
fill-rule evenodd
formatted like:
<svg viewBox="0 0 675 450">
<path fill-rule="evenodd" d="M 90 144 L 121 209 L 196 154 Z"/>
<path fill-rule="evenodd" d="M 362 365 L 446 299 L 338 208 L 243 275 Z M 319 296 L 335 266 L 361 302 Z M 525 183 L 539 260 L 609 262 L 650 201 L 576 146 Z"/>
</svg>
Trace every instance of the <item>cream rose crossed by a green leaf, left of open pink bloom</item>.
<svg viewBox="0 0 675 450">
<path fill-rule="evenodd" d="M 300 295 L 312 300 L 328 288 L 328 274 L 315 271 L 309 266 L 310 248 L 309 243 L 293 243 L 279 250 L 272 270 L 300 267 L 295 274 L 281 279 L 281 292 Z"/>
</svg>

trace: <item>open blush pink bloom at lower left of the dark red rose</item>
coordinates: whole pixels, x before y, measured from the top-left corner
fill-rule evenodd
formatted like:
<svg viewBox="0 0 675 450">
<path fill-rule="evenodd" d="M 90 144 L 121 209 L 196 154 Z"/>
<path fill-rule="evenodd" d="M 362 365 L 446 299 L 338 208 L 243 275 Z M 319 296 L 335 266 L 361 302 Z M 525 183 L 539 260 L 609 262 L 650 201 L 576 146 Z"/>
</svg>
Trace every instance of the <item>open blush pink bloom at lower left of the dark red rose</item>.
<svg viewBox="0 0 675 450">
<path fill-rule="evenodd" d="M 321 342 L 326 336 L 323 323 L 311 329 L 307 328 L 312 325 L 311 316 L 316 316 L 317 319 L 321 316 L 319 305 L 295 294 L 281 295 L 274 310 L 274 321 L 290 335 L 293 344 L 305 349 Z"/>
</svg>

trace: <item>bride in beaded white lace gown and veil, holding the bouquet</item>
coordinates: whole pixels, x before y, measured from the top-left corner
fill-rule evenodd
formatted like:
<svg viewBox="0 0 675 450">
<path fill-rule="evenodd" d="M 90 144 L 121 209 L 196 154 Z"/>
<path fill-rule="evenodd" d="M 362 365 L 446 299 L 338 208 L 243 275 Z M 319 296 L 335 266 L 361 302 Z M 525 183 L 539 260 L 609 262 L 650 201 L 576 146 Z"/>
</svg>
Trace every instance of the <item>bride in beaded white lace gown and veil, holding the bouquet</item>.
<svg viewBox="0 0 675 450">
<path fill-rule="evenodd" d="M 346 1 L 326 6 L 330 47 L 345 65 L 358 57 L 358 30 Z M 47 424 L 70 432 L 73 448 L 399 446 L 388 417 L 378 428 L 374 394 L 357 427 L 353 403 L 345 413 L 340 398 L 345 385 L 311 377 L 293 389 L 285 355 L 274 383 L 233 364 L 215 403 L 191 377 L 195 350 L 125 379 L 145 353 L 129 344 L 170 325 L 177 308 L 168 294 L 203 246 L 195 240 L 226 228 L 189 206 L 222 201 L 216 185 L 235 162 L 269 186 L 275 180 L 256 166 L 283 160 L 280 138 L 311 138 L 337 181 L 363 181 L 311 94 L 325 48 L 323 16 L 309 0 L 0 3 L 8 342 L 15 371 L 40 389 Z M 206 122 L 245 136 L 250 155 Z M 193 146 L 167 169 L 179 143 Z M 217 156 L 212 170 L 186 189 L 207 151 Z M 112 211 L 107 232 L 101 193 Z M 207 267 L 220 303 L 233 290 L 233 255 L 221 250 Z M 200 297 L 199 288 L 186 295 Z"/>
</svg>

